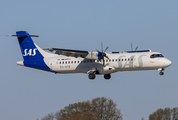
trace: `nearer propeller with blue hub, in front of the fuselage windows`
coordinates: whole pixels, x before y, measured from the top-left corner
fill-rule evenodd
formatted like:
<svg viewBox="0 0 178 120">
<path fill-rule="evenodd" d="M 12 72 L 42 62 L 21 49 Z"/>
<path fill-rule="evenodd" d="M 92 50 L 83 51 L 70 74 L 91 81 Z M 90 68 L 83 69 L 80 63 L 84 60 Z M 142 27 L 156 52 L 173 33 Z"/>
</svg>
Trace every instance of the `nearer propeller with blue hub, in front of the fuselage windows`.
<svg viewBox="0 0 178 120">
<path fill-rule="evenodd" d="M 109 48 L 109 46 L 108 47 L 106 47 L 106 49 L 103 51 L 103 42 L 101 42 L 101 49 L 102 49 L 102 52 L 100 52 L 100 51 L 98 51 L 97 49 L 96 49 L 96 51 L 98 52 L 98 61 L 101 61 L 101 60 L 103 60 L 103 68 L 104 68 L 104 66 L 105 66 L 105 60 L 104 60 L 104 58 L 106 57 L 107 59 L 109 59 L 109 57 L 106 55 L 106 50 Z"/>
</svg>

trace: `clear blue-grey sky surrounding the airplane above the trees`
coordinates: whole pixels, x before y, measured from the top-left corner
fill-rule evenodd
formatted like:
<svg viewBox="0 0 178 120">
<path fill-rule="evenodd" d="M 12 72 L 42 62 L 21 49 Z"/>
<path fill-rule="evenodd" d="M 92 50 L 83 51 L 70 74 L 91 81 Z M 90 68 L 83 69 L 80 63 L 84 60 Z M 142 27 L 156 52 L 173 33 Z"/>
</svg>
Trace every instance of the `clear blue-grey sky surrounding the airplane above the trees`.
<svg viewBox="0 0 178 120">
<path fill-rule="evenodd" d="M 36 120 L 68 104 L 107 97 L 124 120 L 148 119 L 158 108 L 178 107 L 177 0 L 5 0 L 0 1 L 0 119 Z M 109 81 L 86 74 L 52 74 L 16 65 L 22 60 L 17 38 L 25 30 L 41 48 L 161 52 L 172 61 L 159 72 L 112 74 Z"/>
</svg>

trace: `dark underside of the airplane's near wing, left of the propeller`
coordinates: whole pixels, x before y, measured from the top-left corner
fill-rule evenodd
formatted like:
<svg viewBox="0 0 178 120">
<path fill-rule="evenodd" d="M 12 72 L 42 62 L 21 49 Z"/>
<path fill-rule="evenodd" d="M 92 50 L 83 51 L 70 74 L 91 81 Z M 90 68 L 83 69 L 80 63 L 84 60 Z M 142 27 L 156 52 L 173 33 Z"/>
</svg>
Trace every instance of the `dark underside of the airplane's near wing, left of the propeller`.
<svg viewBox="0 0 178 120">
<path fill-rule="evenodd" d="M 70 49 L 59 49 L 59 48 L 44 48 L 44 50 L 49 50 L 50 52 L 55 51 L 55 54 L 71 56 L 75 58 L 77 57 L 85 58 L 89 54 L 88 51 L 82 51 L 82 50 L 70 50 Z"/>
</svg>

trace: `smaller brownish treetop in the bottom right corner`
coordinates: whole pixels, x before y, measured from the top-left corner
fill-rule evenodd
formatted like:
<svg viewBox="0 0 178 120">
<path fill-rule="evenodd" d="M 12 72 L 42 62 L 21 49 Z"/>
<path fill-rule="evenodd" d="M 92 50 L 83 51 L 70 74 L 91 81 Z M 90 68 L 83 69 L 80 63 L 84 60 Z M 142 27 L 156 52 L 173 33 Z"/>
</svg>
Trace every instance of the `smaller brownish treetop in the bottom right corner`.
<svg viewBox="0 0 178 120">
<path fill-rule="evenodd" d="M 178 120 L 178 108 L 160 108 L 150 114 L 149 120 Z"/>
</svg>

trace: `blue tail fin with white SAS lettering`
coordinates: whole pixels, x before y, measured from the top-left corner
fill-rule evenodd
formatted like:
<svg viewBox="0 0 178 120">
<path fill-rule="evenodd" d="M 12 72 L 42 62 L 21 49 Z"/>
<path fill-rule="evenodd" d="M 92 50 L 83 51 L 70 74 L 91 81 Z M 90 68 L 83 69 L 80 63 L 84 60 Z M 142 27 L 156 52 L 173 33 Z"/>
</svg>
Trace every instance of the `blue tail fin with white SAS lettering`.
<svg viewBox="0 0 178 120">
<path fill-rule="evenodd" d="M 24 61 L 44 58 L 26 31 L 16 32 Z"/>
</svg>

